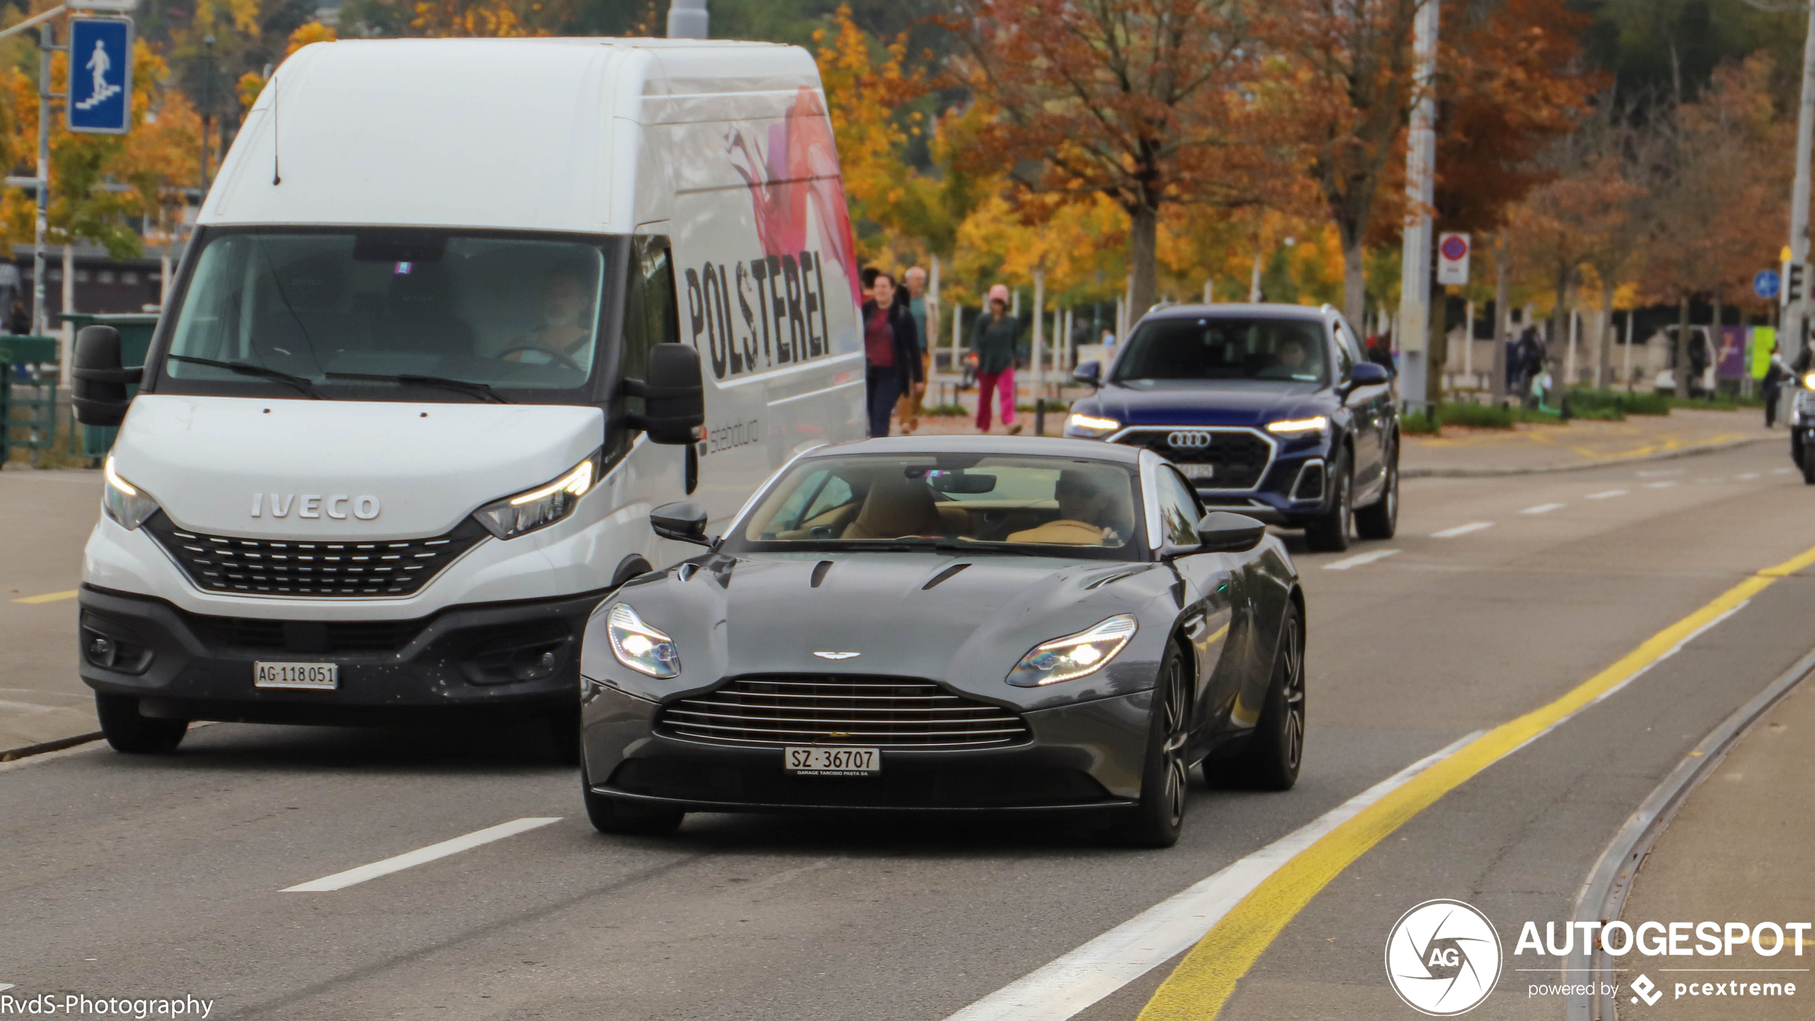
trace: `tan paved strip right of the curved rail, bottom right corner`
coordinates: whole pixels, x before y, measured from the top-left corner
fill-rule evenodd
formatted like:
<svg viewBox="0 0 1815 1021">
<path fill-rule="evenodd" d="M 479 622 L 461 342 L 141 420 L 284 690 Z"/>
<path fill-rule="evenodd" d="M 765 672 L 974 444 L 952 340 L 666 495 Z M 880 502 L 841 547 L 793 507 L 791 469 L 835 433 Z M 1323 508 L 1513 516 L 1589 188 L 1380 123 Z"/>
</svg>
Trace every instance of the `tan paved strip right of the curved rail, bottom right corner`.
<svg viewBox="0 0 1815 1021">
<path fill-rule="evenodd" d="M 1639 867 L 1621 919 L 1644 921 L 1815 921 L 1815 682 L 1802 682 L 1728 753 L 1713 774 L 1690 792 Z M 1621 1017 L 1679 1021 L 1777 1021 L 1815 1016 L 1815 932 L 1804 930 L 1802 956 L 1786 936 L 1782 952 L 1761 956 L 1750 945 L 1732 956 L 1619 959 Z M 1766 950 L 1773 936 L 1761 938 Z M 1690 936 L 1688 947 L 1695 947 Z M 1741 970 L 1744 968 L 1744 970 Z M 1639 976 L 1657 983 L 1663 999 L 1632 1003 Z M 1735 990 L 1742 981 L 1744 990 Z M 1713 985 L 1712 997 L 1677 996 L 1677 983 Z M 1751 992 L 1759 983 L 1759 994 Z M 1795 985 L 1793 996 L 1768 996 L 1764 983 Z M 1726 992 L 1726 996 L 1722 996 Z M 1733 996 L 1739 992 L 1739 996 Z"/>
</svg>

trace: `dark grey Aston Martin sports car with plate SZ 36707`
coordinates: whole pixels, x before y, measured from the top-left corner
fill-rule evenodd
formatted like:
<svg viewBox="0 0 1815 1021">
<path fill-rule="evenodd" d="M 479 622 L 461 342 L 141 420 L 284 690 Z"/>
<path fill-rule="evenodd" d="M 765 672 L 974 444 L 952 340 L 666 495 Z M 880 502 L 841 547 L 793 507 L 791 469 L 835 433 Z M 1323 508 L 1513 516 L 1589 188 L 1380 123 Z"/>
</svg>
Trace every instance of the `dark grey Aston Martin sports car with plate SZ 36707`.
<svg viewBox="0 0 1815 1021">
<path fill-rule="evenodd" d="M 1147 448 L 815 448 L 586 626 L 583 789 L 604 832 L 688 811 L 1096 811 L 1171 845 L 1189 771 L 1283 791 L 1305 604 L 1278 539 Z"/>
</svg>

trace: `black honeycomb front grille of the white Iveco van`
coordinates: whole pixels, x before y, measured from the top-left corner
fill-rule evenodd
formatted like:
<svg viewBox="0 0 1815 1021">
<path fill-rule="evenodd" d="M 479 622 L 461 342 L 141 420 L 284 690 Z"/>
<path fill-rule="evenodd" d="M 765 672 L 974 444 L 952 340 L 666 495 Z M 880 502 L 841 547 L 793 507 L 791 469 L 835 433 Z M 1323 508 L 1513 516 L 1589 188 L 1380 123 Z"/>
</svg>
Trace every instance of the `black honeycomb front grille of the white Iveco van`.
<svg viewBox="0 0 1815 1021">
<path fill-rule="evenodd" d="M 488 535 L 468 517 L 432 539 L 240 539 L 185 531 L 163 511 L 145 531 L 201 589 L 336 598 L 410 595 Z"/>
</svg>

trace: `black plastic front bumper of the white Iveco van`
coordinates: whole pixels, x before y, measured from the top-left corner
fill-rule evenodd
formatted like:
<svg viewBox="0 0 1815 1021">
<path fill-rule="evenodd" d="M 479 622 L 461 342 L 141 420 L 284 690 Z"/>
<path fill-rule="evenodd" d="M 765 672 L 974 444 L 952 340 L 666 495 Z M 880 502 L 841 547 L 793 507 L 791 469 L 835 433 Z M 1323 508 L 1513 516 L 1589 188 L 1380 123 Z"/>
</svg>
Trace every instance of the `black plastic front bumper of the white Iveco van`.
<svg viewBox="0 0 1815 1021">
<path fill-rule="evenodd" d="M 392 724 L 574 707 L 579 638 L 606 589 L 452 606 L 416 620 L 205 617 L 142 595 L 80 591 L 76 662 L 94 691 L 180 720 Z M 338 664 L 334 691 L 252 686 L 256 662 Z"/>
</svg>

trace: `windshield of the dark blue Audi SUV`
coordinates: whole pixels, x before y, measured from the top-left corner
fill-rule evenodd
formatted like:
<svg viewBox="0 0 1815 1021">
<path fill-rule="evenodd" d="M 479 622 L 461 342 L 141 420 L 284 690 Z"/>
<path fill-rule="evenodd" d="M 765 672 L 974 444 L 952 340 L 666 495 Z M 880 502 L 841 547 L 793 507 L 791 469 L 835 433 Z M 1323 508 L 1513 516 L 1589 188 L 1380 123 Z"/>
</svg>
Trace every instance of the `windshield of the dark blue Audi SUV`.
<svg viewBox="0 0 1815 1021">
<path fill-rule="evenodd" d="M 1305 319 L 1149 319 L 1113 379 L 1272 379 L 1323 383 L 1323 325 Z"/>
</svg>

